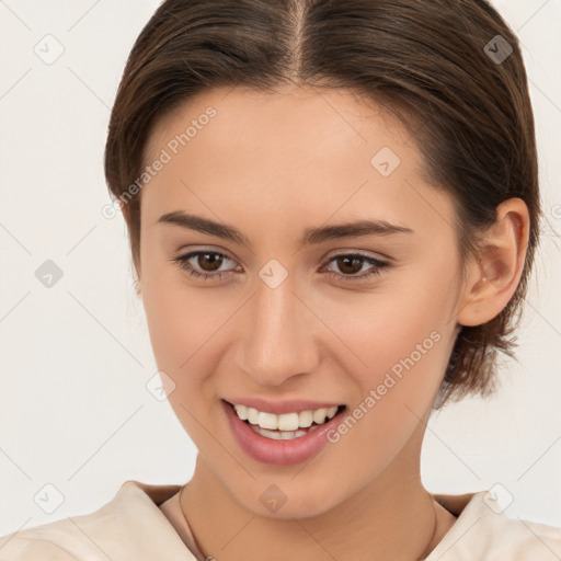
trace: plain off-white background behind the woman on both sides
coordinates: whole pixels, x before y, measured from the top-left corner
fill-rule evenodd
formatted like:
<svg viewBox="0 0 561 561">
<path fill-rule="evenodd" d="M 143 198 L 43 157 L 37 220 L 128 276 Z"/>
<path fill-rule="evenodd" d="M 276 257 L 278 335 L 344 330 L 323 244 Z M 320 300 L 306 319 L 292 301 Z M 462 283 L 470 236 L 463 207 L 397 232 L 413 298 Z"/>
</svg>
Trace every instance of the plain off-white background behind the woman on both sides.
<svg viewBox="0 0 561 561">
<path fill-rule="evenodd" d="M 128 479 L 193 472 L 193 443 L 146 388 L 157 368 L 125 224 L 101 214 L 110 107 L 158 4 L 0 1 L 0 536 L 93 512 Z M 504 362 L 493 399 L 432 417 L 423 479 L 444 493 L 500 484 L 508 516 L 561 526 L 561 1 L 494 4 L 524 46 L 549 224 L 518 362 Z M 64 47 L 50 65 L 35 51 L 56 51 L 47 34 Z M 35 276 L 47 260 L 62 273 L 51 288 Z"/>
</svg>

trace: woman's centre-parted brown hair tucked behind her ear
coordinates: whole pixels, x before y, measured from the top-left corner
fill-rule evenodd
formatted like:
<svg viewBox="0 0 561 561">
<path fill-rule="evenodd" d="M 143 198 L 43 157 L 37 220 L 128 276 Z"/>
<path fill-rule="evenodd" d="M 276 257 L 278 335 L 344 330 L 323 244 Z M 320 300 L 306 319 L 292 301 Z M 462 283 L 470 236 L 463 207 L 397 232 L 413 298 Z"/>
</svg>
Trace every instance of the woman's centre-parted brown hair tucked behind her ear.
<svg viewBox="0 0 561 561">
<path fill-rule="evenodd" d="M 496 352 L 514 356 L 510 335 L 541 209 L 520 48 L 484 0 L 165 0 L 130 51 L 105 147 L 105 176 L 125 205 L 136 272 L 140 196 L 130 196 L 130 186 L 157 121 L 210 88 L 274 91 L 288 82 L 355 91 L 400 118 L 425 157 L 426 181 L 453 196 L 463 264 L 477 255 L 478 236 L 500 203 L 526 203 L 530 231 L 518 287 L 494 319 L 462 327 L 436 407 L 490 393 Z"/>
</svg>

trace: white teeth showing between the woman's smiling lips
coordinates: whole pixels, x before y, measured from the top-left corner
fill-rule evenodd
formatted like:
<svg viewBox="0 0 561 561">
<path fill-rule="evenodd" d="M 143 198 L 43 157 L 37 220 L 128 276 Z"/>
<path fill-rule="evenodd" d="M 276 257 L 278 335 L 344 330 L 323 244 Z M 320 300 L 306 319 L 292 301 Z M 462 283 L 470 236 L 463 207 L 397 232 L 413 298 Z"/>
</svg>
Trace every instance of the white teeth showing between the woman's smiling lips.
<svg viewBox="0 0 561 561">
<path fill-rule="evenodd" d="M 306 436 L 346 409 L 346 405 L 342 404 L 276 415 L 229 401 L 226 403 L 231 407 L 238 419 L 249 425 L 253 432 L 275 440 L 290 440 Z"/>
</svg>

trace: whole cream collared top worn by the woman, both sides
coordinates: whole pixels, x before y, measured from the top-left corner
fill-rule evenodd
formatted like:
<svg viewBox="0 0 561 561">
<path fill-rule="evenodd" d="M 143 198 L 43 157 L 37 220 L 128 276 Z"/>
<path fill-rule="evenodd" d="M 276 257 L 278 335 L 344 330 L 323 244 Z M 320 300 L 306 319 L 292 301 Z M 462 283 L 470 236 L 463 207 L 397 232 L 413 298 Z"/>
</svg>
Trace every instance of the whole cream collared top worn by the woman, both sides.
<svg viewBox="0 0 561 561">
<path fill-rule="evenodd" d="M 204 561 L 174 514 L 180 490 L 128 480 L 94 513 L 0 537 L 0 561 Z M 434 496 L 458 519 L 426 561 L 561 559 L 561 529 L 507 518 L 485 491 Z"/>
</svg>

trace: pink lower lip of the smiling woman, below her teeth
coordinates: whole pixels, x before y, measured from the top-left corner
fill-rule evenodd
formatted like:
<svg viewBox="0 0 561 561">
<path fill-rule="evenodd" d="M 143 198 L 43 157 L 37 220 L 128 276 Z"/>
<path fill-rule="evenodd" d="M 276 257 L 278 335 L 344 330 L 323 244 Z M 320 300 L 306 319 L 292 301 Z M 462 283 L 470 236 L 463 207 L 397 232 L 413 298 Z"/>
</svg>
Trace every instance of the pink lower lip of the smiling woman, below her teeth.
<svg viewBox="0 0 561 561">
<path fill-rule="evenodd" d="M 328 443 L 328 433 L 336 430 L 345 410 L 337 412 L 320 428 L 290 440 L 274 440 L 255 433 L 233 411 L 232 405 L 222 400 L 222 408 L 233 436 L 243 451 L 254 460 L 273 466 L 291 466 L 316 456 Z"/>
</svg>

